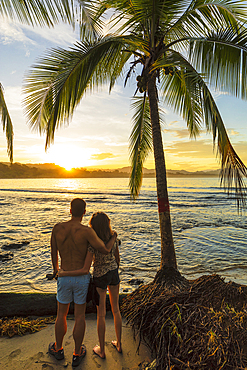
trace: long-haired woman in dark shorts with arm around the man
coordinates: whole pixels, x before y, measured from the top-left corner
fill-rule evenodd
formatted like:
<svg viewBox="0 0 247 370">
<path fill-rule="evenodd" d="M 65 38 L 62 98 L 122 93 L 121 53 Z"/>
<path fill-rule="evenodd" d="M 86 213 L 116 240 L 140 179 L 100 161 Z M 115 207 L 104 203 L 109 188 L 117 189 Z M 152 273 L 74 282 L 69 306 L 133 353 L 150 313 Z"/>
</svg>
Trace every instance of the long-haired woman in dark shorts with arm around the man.
<svg viewBox="0 0 247 370">
<path fill-rule="evenodd" d="M 104 212 L 96 212 L 92 215 L 89 222 L 96 234 L 105 243 L 109 241 L 114 232 L 111 229 L 110 219 Z M 59 276 L 75 276 L 85 274 L 89 269 L 92 258 L 93 261 L 93 280 L 99 293 L 99 306 L 97 306 L 97 330 L 99 345 L 93 348 L 96 355 L 105 358 L 105 315 L 106 315 L 106 292 L 109 290 L 111 310 L 114 317 L 114 326 L 116 340 L 112 345 L 119 353 L 122 353 L 121 336 L 122 336 L 122 318 L 119 310 L 119 274 L 118 268 L 120 263 L 119 248 L 120 240 L 116 239 L 111 252 L 104 255 L 96 251 L 93 247 L 88 247 L 88 254 L 84 267 L 75 271 L 59 271 Z"/>
</svg>

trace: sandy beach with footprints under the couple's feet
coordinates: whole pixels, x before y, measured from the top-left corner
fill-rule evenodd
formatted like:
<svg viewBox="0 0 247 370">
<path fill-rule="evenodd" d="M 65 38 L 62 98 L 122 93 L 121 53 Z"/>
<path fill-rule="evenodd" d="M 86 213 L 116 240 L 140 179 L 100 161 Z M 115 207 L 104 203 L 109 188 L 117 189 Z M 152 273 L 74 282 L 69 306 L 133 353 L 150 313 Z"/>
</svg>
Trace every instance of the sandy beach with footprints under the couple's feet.
<svg viewBox="0 0 247 370">
<path fill-rule="evenodd" d="M 68 330 L 64 338 L 65 359 L 57 361 L 47 353 L 48 344 L 54 341 L 54 324 L 34 334 L 26 334 L 22 337 L 0 338 L 0 369 L 11 370 L 61 370 L 72 368 L 72 354 L 74 342 L 72 330 L 74 317 L 68 318 Z M 86 334 L 84 344 L 87 354 L 77 369 L 87 370 L 138 370 L 140 363 L 151 361 L 151 353 L 148 348 L 141 345 L 137 354 L 138 343 L 133 339 L 133 332 L 123 321 L 123 353 L 119 354 L 111 345 L 115 339 L 114 322 L 111 312 L 106 316 L 106 359 L 102 360 L 93 353 L 93 347 L 98 343 L 96 329 L 96 314 L 86 315 Z"/>
</svg>

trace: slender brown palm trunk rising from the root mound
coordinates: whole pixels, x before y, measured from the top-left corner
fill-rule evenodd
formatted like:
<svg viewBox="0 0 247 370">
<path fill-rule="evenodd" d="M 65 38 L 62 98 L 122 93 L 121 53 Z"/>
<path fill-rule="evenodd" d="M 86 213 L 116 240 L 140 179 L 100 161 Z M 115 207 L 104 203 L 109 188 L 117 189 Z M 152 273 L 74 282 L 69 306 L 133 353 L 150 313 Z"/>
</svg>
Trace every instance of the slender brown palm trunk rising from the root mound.
<svg viewBox="0 0 247 370">
<path fill-rule="evenodd" d="M 153 136 L 153 150 L 155 160 L 155 172 L 157 183 L 157 198 L 158 211 L 160 221 L 161 234 L 161 264 L 167 267 L 177 268 L 176 254 L 173 244 L 172 226 L 170 217 L 170 207 L 167 191 L 166 165 L 164 157 L 164 149 L 162 143 L 159 110 L 158 110 L 158 95 L 156 89 L 156 77 L 151 76 L 148 79 L 148 99 L 150 106 L 150 116 Z"/>
</svg>

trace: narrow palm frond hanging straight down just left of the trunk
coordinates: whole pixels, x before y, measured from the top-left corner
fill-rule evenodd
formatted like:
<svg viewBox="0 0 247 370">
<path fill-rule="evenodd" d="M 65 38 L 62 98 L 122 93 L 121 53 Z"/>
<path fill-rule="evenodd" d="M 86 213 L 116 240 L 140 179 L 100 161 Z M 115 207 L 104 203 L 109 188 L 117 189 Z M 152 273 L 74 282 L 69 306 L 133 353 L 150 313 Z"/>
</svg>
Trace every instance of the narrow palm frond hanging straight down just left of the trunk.
<svg viewBox="0 0 247 370">
<path fill-rule="evenodd" d="M 133 129 L 129 139 L 131 161 L 129 187 L 131 197 L 136 199 L 142 184 L 143 164 L 152 151 L 151 119 L 146 93 L 143 97 L 133 98 L 131 108 L 134 110 L 134 115 Z"/>
</svg>

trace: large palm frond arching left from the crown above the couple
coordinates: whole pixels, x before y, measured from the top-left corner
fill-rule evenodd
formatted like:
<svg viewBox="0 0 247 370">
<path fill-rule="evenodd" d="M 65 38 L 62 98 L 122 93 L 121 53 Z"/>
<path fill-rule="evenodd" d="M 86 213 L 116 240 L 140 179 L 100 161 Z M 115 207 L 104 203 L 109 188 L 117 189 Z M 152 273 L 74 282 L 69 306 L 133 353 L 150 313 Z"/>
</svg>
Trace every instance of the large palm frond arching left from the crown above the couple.
<svg viewBox="0 0 247 370">
<path fill-rule="evenodd" d="M 46 148 L 86 91 L 109 81 L 112 87 L 129 58 L 122 50 L 132 47 L 141 48 L 138 38 L 111 35 L 69 50 L 52 49 L 33 66 L 25 78 L 25 113 L 32 127 L 46 132 Z"/>
</svg>

